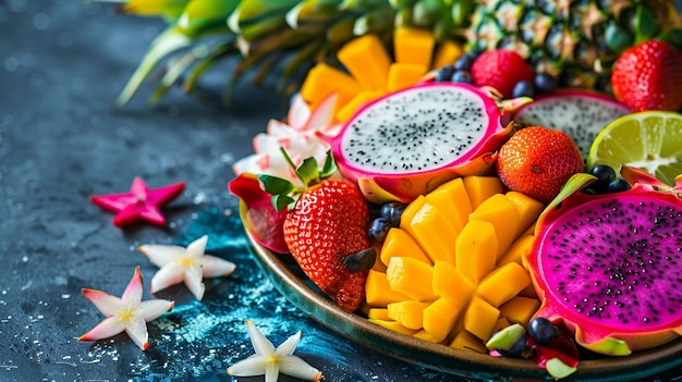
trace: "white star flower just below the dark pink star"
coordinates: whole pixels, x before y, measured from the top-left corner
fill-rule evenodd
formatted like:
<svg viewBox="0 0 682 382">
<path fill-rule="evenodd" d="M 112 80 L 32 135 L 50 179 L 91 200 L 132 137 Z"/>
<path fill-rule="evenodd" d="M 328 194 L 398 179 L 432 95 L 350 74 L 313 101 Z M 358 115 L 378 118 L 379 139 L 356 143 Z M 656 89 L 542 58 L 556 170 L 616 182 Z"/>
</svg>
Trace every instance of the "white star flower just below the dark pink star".
<svg viewBox="0 0 682 382">
<path fill-rule="evenodd" d="M 204 278 L 227 276 L 234 272 L 233 262 L 216 256 L 205 255 L 208 236 L 190 243 L 187 248 L 174 245 L 147 244 L 138 249 L 159 267 L 151 279 L 151 293 L 184 282 L 194 297 L 204 297 Z"/>
</svg>

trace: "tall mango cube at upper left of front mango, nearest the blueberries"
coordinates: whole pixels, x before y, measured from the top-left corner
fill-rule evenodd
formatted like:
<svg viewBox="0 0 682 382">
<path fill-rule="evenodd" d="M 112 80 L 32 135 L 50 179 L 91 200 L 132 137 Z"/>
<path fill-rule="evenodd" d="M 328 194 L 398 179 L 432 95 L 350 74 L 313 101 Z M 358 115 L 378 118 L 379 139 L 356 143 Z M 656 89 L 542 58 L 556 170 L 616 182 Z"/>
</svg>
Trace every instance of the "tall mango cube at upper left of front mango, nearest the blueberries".
<svg viewBox="0 0 682 382">
<path fill-rule="evenodd" d="M 402 221 L 401 221 L 402 225 Z M 444 213 L 436 206 L 425 202 L 412 218 L 405 230 L 415 238 L 431 261 L 443 260 L 454 263 L 454 238 L 456 231 Z"/>
</svg>

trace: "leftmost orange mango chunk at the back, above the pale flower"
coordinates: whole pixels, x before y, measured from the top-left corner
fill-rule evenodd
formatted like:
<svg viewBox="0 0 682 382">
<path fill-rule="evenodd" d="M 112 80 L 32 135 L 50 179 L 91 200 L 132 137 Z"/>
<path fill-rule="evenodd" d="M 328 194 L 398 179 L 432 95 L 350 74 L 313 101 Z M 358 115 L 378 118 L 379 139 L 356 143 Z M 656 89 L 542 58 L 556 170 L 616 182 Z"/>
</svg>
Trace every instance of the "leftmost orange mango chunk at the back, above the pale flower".
<svg viewBox="0 0 682 382">
<path fill-rule="evenodd" d="M 345 104 L 362 90 L 360 84 L 349 74 L 325 63 L 315 65 L 301 86 L 301 97 L 313 107 L 327 96 L 337 93 L 337 108 Z"/>
</svg>

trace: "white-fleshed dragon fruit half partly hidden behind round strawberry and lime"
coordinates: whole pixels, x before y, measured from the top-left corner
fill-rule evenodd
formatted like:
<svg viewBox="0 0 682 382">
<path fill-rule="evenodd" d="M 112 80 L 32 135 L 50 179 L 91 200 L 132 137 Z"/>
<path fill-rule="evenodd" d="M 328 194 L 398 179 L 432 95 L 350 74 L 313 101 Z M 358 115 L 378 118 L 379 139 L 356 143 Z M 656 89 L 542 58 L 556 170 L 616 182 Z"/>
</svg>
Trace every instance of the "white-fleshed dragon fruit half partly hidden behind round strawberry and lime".
<svg viewBox="0 0 682 382">
<path fill-rule="evenodd" d="M 514 122 L 567 133 L 587 158 L 595 137 L 611 121 L 632 111 L 614 98 L 587 89 L 560 89 L 521 107 Z"/>
</svg>

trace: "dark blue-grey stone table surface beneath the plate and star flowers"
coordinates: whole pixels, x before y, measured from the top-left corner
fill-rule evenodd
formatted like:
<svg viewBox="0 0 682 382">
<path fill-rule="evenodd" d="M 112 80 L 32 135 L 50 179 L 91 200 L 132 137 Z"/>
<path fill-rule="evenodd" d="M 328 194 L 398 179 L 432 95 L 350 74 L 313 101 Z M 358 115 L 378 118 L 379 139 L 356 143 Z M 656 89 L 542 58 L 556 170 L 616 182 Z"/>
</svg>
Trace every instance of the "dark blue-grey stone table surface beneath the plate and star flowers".
<svg viewBox="0 0 682 382">
<path fill-rule="evenodd" d="M 227 184 L 231 164 L 252 152 L 268 119 L 284 115 L 287 100 L 243 84 L 229 110 L 176 88 L 151 107 L 147 86 L 112 110 L 165 24 L 111 9 L 0 1 L 0 381 L 231 381 L 226 368 L 253 353 L 245 319 L 276 345 L 303 330 L 296 354 L 326 381 L 471 381 L 343 338 L 273 288 L 251 258 Z M 150 187 L 186 182 L 163 209 L 166 227 L 118 229 L 89 202 L 126 192 L 135 176 Z M 119 296 L 135 267 L 148 285 L 157 268 L 139 245 L 186 245 L 204 234 L 207 252 L 238 270 L 207 280 L 202 301 L 182 285 L 157 294 L 175 308 L 148 324 L 149 349 L 124 334 L 76 341 L 102 319 L 82 288 Z"/>
</svg>

